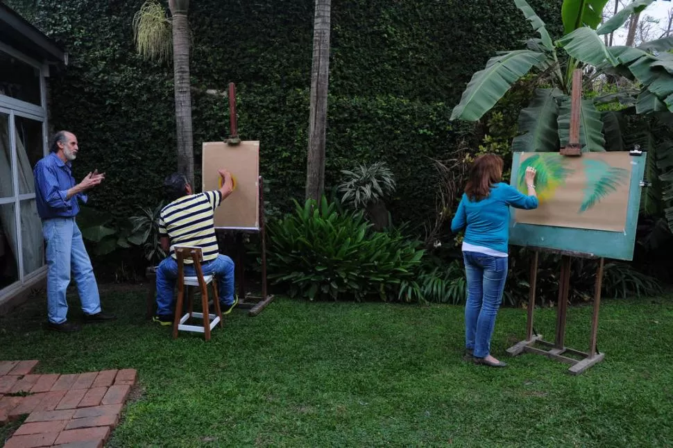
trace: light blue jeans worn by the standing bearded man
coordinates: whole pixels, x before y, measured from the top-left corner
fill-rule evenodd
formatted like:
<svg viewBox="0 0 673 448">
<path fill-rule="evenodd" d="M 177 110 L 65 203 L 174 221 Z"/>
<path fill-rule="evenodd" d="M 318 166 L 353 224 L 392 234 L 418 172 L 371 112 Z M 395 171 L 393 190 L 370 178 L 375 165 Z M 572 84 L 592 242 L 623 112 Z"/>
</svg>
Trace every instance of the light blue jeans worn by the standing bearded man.
<svg viewBox="0 0 673 448">
<path fill-rule="evenodd" d="M 101 312 L 101 297 L 94 277 L 94 268 L 84 247 L 82 232 L 75 218 L 51 218 L 42 221 L 42 236 L 46 244 L 46 302 L 49 322 L 67 320 L 68 302 L 65 292 L 70 284 L 70 271 L 87 314 Z"/>
</svg>

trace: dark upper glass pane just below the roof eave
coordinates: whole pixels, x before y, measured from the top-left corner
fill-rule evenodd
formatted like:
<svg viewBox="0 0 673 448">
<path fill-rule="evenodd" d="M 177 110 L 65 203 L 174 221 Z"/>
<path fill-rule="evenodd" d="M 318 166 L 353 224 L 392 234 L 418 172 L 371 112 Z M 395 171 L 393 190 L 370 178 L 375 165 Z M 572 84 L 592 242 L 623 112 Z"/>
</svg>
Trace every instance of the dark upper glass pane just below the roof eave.
<svg viewBox="0 0 673 448">
<path fill-rule="evenodd" d="M 40 70 L 0 51 L 0 95 L 41 105 Z"/>
</svg>

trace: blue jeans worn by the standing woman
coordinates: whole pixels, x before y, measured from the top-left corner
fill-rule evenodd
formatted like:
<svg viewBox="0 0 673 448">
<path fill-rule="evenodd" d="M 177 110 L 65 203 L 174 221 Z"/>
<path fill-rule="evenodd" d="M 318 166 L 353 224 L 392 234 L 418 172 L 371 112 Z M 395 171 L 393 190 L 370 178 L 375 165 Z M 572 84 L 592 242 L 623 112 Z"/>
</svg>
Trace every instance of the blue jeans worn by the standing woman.
<svg viewBox="0 0 673 448">
<path fill-rule="evenodd" d="M 508 260 L 480 252 L 463 252 L 463 261 L 468 284 L 465 346 L 474 350 L 475 358 L 485 358 L 491 353 L 491 336 L 502 302 Z"/>
</svg>

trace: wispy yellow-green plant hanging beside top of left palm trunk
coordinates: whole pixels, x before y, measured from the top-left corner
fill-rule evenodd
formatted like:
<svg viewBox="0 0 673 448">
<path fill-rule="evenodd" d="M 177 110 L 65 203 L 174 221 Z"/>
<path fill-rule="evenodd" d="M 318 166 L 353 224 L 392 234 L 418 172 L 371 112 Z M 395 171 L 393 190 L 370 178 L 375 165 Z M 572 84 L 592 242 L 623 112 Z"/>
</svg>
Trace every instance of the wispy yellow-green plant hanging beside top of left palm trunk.
<svg viewBox="0 0 673 448">
<path fill-rule="evenodd" d="M 160 62 L 173 57 L 171 21 L 157 0 L 147 0 L 133 17 L 133 40 L 144 58 Z"/>
</svg>

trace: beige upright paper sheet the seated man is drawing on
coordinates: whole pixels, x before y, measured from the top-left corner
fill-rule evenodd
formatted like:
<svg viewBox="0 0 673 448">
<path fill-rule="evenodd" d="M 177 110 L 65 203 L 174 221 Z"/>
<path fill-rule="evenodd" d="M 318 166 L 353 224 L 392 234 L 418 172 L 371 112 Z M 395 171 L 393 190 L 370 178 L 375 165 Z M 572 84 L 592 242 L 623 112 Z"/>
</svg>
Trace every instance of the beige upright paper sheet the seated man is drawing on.
<svg viewBox="0 0 673 448">
<path fill-rule="evenodd" d="M 219 189 L 219 169 L 236 179 L 236 188 L 215 210 L 216 228 L 259 228 L 259 141 L 228 145 L 203 143 L 203 191 Z"/>
</svg>

